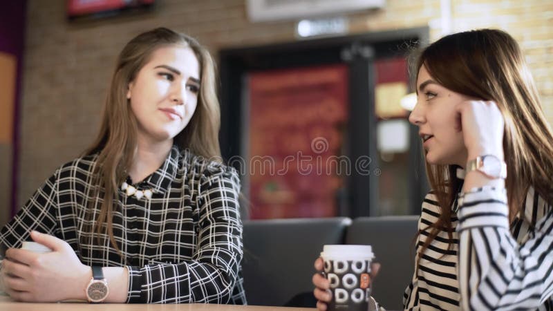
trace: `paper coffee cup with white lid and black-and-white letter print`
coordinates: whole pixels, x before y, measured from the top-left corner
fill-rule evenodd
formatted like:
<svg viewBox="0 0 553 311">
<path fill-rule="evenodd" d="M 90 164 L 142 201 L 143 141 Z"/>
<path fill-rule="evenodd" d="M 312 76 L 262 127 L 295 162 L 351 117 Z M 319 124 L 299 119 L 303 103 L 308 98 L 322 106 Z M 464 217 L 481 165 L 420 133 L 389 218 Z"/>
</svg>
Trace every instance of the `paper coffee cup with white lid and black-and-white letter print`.
<svg viewBox="0 0 553 311">
<path fill-rule="evenodd" d="M 370 245 L 324 245 L 321 257 L 332 291 L 328 310 L 367 310 L 374 256 Z"/>
</svg>

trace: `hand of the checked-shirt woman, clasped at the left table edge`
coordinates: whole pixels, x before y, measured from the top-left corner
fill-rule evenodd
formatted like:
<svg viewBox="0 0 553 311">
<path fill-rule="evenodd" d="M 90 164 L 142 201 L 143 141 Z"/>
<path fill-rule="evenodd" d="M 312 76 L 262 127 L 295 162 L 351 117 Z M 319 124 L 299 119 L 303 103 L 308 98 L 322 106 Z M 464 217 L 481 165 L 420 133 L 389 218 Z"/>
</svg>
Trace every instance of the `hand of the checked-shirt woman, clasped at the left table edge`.
<svg viewBox="0 0 553 311">
<path fill-rule="evenodd" d="M 71 246 L 59 238 L 39 232 L 31 232 L 31 238 L 53 251 L 39 254 L 27 249 L 8 249 L 3 261 L 6 293 L 12 299 L 28 302 L 86 300 L 91 268 L 83 265 Z"/>
</svg>

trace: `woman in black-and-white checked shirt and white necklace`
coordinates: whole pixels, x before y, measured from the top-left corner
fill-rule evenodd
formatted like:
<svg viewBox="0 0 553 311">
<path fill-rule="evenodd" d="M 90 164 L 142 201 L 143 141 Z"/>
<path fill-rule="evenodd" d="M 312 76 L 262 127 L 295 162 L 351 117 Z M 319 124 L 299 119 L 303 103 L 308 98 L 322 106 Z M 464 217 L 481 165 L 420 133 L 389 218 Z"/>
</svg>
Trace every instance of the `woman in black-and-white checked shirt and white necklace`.
<svg viewBox="0 0 553 311">
<path fill-rule="evenodd" d="M 12 299 L 245 303 L 240 182 L 221 163 L 215 80 L 187 35 L 156 28 L 126 44 L 95 142 L 0 232 Z M 31 239 L 52 252 L 17 248 Z"/>
</svg>

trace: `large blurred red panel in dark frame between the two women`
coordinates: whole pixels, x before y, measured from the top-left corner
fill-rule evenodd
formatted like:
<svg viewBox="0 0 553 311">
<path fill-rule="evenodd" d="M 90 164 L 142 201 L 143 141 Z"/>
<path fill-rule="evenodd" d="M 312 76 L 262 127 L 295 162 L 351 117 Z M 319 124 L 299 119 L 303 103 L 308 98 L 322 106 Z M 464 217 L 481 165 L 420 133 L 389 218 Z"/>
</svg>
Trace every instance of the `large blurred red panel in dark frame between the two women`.
<svg viewBox="0 0 553 311">
<path fill-rule="evenodd" d="M 251 218 L 337 215 L 345 65 L 250 75 Z"/>
</svg>

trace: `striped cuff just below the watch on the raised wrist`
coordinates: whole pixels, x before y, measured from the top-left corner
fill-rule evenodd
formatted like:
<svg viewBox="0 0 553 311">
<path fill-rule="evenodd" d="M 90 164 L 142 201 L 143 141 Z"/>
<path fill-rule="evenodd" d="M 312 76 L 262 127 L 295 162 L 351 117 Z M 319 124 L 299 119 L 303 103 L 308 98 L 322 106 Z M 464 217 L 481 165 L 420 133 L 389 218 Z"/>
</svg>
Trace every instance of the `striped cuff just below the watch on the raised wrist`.
<svg viewBox="0 0 553 311">
<path fill-rule="evenodd" d="M 507 191 L 483 187 L 460 194 L 458 232 L 472 227 L 504 227 L 509 229 Z"/>
</svg>

